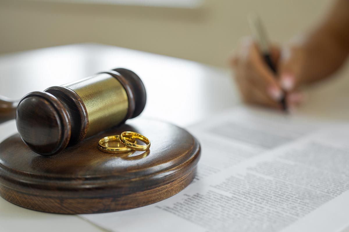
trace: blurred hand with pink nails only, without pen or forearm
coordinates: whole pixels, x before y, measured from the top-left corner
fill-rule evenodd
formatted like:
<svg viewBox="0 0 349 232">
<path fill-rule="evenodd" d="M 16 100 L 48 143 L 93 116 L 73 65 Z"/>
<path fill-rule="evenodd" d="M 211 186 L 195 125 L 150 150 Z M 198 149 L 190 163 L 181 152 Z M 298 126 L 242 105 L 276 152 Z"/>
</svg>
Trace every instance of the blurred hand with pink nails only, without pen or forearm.
<svg viewBox="0 0 349 232">
<path fill-rule="evenodd" d="M 231 58 L 236 83 L 246 103 L 281 110 L 280 100 L 285 96 L 287 106 L 292 110 L 303 100 L 297 90 L 302 82 L 300 74 L 304 66 L 302 49 L 294 46 L 281 52 L 280 47 L 271 46 L 270 55 L 279 75 L 267 66 L 252 38 L 245 38 Z"/>
</svg>

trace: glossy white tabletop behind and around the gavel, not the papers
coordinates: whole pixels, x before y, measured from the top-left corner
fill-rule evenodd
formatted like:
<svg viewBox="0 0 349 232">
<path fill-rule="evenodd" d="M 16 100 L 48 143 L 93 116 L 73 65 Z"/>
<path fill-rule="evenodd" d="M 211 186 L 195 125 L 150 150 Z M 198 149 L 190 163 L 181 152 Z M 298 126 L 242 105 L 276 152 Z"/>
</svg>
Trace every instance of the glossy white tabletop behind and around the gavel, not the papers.
<svg viewBox="0 0 349 232">
<path fill-rule="evenodd" d="M 146 86 L 147 105 L 140 117 L 185 127 L 240 102 L 227 70 L 97 44 L 60 46 L 0 56 L 0 95 L 20 99 L 31 91 L 42 91 L 116 67 L 136 72 Z M 341 78 L 308 89 L 308 101 L 296 114 L 348 121 L 349 68 L 337 75 Z M 0 141 L 14 133 L 14 120 L 0 125 Z M 76 215 L 41 213 L 0 198 L 0 231 L 104 230 Z"/>
</svg>

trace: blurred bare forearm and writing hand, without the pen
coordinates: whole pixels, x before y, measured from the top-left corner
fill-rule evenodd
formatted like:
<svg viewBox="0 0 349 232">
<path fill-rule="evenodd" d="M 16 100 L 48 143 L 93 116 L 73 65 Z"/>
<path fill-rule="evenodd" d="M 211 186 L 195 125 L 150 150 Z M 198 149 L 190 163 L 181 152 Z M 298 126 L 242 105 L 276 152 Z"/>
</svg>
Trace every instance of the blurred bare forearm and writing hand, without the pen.
<svg viewBox="0 0 349 232">
<path fill-rule="evenodd" d="M 349 56 L 348 9 L 349 1 L 334 1 L 324 20 L 283 49 L 269 44 L 262 48 L 252 38 L 243 39 L 230 60 L 243 100 L 283 110 L 284 97 L 290 111 L 302 103 L 299 88 L 331 77 Z"/>
</svg>

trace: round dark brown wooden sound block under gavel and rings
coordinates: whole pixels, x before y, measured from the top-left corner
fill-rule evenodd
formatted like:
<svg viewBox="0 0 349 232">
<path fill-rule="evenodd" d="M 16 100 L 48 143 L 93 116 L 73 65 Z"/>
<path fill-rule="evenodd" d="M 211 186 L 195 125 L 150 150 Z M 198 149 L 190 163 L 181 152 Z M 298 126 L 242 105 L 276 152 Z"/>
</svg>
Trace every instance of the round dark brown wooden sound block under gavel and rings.
<svg viewBox="0 0 349 232">
<path fill-rule="evenodd" d="M 151 141 L 146 152 L 110 154 L 97 142 L 122 131 Z M 51 157 L 26 146 L 18 134 L 0 144 L 0 195 L 29 209 L 61 214 L 132 209 L 171 197 L 193 179 L 198 141 L 177 126 L 131 120 Z"/>
</svg>

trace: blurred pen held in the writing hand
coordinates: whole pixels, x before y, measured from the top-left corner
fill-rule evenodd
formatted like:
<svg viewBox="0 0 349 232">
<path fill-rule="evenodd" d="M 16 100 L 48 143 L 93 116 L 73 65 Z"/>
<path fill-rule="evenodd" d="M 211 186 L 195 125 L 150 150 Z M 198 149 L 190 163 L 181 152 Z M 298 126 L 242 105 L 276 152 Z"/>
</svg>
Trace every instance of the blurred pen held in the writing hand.
<svg viewBox="0 0 349 232">
<path fill-rule="evenodd" d="M 264 61 L 269 66 L 270 70 L 272 70 L 273 73 L 276 74 L 277 71 L 269 51 L 269 42 L 267 38 L 267 33 L 264 30 L 264 27 L 260 18 L 257 15 L 250 14 L 248 15 L 248 24 L 250 25 L 250 29 L 251 29 L 254 40 L 258 43 L 258 46 Z M 280 104 L 282 105 L 282 109 L 284 111 L 287 111 L 285 94 L 283 94 L 280 100 Z"/>
</svg>

